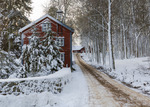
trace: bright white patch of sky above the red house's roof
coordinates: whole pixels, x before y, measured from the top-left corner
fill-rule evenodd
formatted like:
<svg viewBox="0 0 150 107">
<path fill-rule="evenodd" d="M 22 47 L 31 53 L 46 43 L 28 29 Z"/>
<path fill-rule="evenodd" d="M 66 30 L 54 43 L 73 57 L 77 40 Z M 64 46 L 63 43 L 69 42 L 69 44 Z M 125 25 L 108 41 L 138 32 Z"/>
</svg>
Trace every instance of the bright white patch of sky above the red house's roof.
<svg viewBox="0 0 150 107">
<path fill-rule="evenodd" d="M 44 8 L 42 5 L 45 5 L 47 3 L 49 3 L 50 0 L 32 0 L 32 14 L 30 15 L 29 19 L 31 21 L 34 21 L 38 18 L 40 18 L 41 16 L 44 15 Z"/>
</svg>

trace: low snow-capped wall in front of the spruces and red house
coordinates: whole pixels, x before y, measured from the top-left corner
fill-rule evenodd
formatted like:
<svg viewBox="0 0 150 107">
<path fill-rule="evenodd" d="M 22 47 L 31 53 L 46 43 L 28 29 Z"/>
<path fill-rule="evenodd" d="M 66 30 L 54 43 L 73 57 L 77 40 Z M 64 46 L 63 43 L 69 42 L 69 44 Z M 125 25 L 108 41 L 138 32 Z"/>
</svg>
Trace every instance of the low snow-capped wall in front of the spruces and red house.
<svg viewBox="0 0 150 107">
<path fill-rule="evenodd" d="M 41 92 L 60 93 L 71 80 L 70 68 L 63 68 L 54 74 L 43 77 L 0 79 L 0 94 L 30 94 Z"/>
</svg>

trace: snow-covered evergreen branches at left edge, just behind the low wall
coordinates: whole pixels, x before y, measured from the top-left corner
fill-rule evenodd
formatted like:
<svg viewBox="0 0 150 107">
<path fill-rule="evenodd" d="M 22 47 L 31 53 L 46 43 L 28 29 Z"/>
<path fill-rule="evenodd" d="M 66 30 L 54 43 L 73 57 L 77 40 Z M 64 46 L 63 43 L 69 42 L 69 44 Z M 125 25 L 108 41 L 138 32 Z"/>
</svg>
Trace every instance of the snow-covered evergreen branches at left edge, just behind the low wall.
<svg viewBox="0 0 150 107">
<path fill-rule="evenodd" d="M 0 50 L 0 79 L 24 78 L 24 67 L 14 54 Z"/>
</svg>

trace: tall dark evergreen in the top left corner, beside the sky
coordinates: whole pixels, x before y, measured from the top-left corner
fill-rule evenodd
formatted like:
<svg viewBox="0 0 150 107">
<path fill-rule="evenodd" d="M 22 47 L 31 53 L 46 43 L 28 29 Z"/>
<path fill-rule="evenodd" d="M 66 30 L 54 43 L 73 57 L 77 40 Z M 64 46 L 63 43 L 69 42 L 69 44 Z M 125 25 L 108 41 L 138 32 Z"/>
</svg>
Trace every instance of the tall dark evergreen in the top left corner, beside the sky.
<svg viewBox="0 0 150 107">
<path fill-rule="evenodd" d="M 25 15 L 31 10 L 31 0 L 0 1 L 0 41 L 3 50 L 10 50 L 9 35 L 18 36 L 18 30 L 29 22 Z"/>
</svg>

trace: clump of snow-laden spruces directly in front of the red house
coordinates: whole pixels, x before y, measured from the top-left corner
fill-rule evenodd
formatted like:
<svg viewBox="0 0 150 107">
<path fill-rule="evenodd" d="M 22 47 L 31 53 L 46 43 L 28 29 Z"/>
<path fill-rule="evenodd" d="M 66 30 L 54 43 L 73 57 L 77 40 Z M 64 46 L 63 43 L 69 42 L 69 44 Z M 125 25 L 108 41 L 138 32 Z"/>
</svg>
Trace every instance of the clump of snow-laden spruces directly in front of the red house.
<svg viewBox="0 0 150 107">
<path fill-rule="evenodd" d="M 42 38 L 35 35 L 30 38 L 30 44 L 23 46 L 22 59 L 25 71 L 32 76 L 38 72 L 44 74 L 54 73 L 63 66 L 63 62 L 59 59 L 59 47 L 53 39 L 53 33 L 48 31 Z"/>
</svg>

